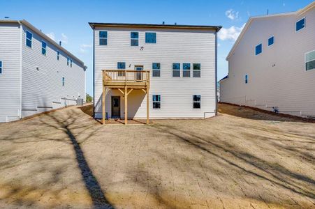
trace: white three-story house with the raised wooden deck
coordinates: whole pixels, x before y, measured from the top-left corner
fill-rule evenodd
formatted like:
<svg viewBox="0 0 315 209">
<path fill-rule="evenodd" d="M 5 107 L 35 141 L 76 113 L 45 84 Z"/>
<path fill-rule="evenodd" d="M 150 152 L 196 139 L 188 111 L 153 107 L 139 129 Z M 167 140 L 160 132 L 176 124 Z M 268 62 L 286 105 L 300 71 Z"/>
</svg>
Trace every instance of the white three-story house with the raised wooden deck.
<svg viewBox="0 0 315 209">
<path fill-rule="evenodd" d="M 221 26 L 89 25 L 94 31 L 95 118 L 103 118 L 102 70 L 106 70 L 105 88 L 109 88 L 103 111 L 107 118 L 215 116 L 217 32 Z M 129 86 L 132 78 L 137 81 Z M 115 86 L 119 80 L 121 85 Z M 144 80 L 147 86 L 142 88 Z"/>
</svg>

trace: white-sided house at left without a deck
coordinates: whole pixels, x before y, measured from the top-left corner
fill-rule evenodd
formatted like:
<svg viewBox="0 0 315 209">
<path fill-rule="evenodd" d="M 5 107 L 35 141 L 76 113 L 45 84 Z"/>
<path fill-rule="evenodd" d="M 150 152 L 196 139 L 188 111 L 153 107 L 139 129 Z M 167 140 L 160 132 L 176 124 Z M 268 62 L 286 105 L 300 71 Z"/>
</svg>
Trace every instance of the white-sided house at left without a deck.
<svg viewBox="0 0 315 209">
<path fill-rule="evenodd" d="M 85 100 L 80 59 L 25 20 L 0 20 L 0 122 Z"/>
</svg>

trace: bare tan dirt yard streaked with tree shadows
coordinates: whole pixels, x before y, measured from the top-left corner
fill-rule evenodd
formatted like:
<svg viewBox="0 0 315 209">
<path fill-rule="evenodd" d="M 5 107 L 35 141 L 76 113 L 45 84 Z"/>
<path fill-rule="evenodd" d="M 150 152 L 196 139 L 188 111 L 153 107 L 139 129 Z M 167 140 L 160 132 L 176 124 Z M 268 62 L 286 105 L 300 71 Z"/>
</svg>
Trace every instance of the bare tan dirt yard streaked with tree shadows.
<svg viewBox="0 0 315 209">
<path fill-rule="evenodd" d="M 68 107 L 3 123 L 0 208 L 315 208 L 315 124 L 219 109 L 101 125 Z"/>
</svg>

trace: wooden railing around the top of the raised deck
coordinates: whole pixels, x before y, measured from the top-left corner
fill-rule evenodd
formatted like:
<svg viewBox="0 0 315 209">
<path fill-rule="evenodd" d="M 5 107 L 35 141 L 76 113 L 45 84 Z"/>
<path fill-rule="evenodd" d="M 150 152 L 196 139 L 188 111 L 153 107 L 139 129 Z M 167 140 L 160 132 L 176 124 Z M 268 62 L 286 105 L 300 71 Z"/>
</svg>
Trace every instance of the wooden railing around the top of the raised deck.
<svg viewBox="0 0 315 209">
<path fill-rule="evenodd" d="M 104 82 L 149 82 L 148 70 L 103 70 Z"/>
</svg>

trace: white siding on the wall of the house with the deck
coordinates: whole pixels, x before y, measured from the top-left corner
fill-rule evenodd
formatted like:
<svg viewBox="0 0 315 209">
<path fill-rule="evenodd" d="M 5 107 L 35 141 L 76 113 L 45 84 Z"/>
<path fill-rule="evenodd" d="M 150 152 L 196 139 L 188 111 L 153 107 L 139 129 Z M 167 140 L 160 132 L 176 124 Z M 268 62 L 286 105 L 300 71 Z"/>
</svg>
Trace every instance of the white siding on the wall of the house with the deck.
<svg viewBox="0 0 315 209">
<path fill-rule="evenodd" d="M 110 44 L 98 45 L 99 31 L 108 31 Z M 142 51 L 131 47 L 131 31 L 139 32 L 139 41 L 145 41 L 145 33 L 156 33 L 156 44 L 145 44 Z M 144 70 L 152 70 L 152 63 L 161 64 L 160 77 L 151 76 L 149 88 L 150 118 L 204 118 L 214 116 L 216 108 L 215 89 L 215 33 L 214 30 L 141 29 L 96 27 L 95 29 L 95 116 L 102 117 L 102 70 L 117 69 L 117 62 L 125 62 L 126 70 L 134 70 L 135 65 L 143 65 Z M 141 44 L 140 44 L 141 45 Z M 202 75 L 193 77 L 173 77 L 173 63 L 199 63 Z M 200 71 L 199 71 L 200 72 Z M 152 74 L 151 74 L 152 75 Z M 111 116 L 111 96 L 121 95 L 110 90 L 106 96 L 106 112 Z M 161 109 L 153 109 L 152 95 L 161 95 Z M 193 109 L 192 95 L 202 95 L 203 105 Z M 121 116 L 124 118 L 124 98 L 121 98 Z M 129 117 L 145 118 L 147 97 L 142 91 L 134 90 L 128 97 Z"/>
</svg>

